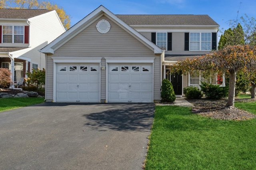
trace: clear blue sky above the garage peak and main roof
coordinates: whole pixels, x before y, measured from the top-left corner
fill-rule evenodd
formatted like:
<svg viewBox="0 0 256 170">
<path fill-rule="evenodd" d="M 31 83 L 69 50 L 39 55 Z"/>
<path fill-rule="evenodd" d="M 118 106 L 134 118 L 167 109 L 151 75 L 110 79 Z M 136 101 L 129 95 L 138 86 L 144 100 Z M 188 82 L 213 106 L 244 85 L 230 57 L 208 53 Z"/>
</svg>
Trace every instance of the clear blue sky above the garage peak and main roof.
<svg viewBox="0 0 256 170">
<path fill-rule="evenodd" d="M 62 6 L 70 15 L 71 26 L 100 5 L 114 14 L 207 14 L 220 25 L 220 30 L 228 29 L 229 20 L 240 18 L 244 14 L 256 18 L 255 0 L 52 0 L 52 2 Z"/>
</svg>

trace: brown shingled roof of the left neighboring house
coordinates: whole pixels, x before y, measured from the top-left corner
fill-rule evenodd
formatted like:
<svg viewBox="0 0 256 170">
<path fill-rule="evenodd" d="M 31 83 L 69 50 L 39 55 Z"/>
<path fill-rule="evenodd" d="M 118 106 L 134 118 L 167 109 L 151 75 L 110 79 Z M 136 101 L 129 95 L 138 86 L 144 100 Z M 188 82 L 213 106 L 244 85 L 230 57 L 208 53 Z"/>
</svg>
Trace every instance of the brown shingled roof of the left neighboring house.
<svg viewBox="0 0 256 170">
<path fill-rule="evenodd" d="M 53 10 L 0 9 L 0 19 L 28 19 Z"/>
</svg>

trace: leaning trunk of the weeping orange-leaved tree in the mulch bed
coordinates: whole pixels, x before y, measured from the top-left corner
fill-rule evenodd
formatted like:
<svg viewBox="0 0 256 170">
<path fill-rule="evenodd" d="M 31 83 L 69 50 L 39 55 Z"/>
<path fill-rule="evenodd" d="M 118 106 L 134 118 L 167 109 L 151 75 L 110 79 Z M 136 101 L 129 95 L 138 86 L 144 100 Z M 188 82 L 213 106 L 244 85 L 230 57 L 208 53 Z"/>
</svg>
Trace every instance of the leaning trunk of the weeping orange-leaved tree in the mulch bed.
<svg viewBox="0 0 256 170">
<path fill-rule="evenodd" d="M 236 71 L 229 72 L 228 102 L 226 107 L 234 108 L 236 91 Z"/>
</svg>

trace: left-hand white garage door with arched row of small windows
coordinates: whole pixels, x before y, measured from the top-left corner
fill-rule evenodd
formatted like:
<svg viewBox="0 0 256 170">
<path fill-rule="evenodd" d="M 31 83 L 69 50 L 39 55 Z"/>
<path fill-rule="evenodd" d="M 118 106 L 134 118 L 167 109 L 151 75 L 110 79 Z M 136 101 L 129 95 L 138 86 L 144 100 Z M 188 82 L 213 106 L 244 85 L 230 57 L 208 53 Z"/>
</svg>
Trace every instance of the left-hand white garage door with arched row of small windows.
<svg viewBox="0 0 256 170">
<path fill-rule="evenodd" d="M 99 64 L 57 64 L 57 102 L 99 102 Z"/>
</svg>

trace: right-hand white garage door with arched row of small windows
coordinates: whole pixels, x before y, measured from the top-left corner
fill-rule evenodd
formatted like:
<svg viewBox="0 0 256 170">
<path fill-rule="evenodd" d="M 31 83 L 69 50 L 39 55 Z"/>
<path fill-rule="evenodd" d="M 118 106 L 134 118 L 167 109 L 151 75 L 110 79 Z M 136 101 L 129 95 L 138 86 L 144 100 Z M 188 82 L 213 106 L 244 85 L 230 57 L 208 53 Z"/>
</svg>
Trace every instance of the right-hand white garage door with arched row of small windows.
<svg viewBox="0 0 256 170">
<path fill-rule="evenodd" d="M 108 102 L 152 102 L 152 64 L 109 64 Z"/>
</svg>

